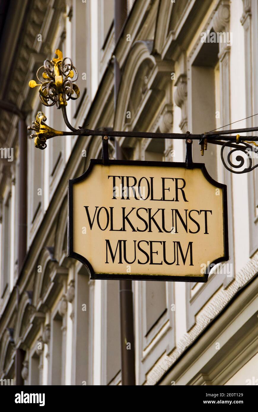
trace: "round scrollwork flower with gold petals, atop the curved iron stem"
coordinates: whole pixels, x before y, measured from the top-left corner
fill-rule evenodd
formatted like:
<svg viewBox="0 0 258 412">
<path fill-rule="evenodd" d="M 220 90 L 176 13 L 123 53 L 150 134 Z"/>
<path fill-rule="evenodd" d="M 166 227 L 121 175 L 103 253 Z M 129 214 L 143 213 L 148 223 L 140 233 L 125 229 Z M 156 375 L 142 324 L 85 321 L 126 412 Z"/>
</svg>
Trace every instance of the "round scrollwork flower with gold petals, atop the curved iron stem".
<svg viewBox="0 0 258 412">
<path fill-rule="evenodd" d="M 78 79 L 78 72 L 73 66 L 73 61 L 70 57 L 63 59 L 63 53 L 59 49 L 56 49 L 55 54 L 58 56 L 57 58 L 51 61 L 45 60 L 44 65 L 38 69 L 36 76 L 40 84 L 37 84 L 35 80 L 30 80 L 29 86 L 31 88 L 40 87 L 40 101 L 45 106 L 55 104 L 60 109 L 61 106 L 67 105 L 70 98 L 77 99 L 80 96 L 80 90 L 74 84 Z M 40 80 L 42 69 L 44 70 L 41 74 L 43 80 Z"/>
</svg>

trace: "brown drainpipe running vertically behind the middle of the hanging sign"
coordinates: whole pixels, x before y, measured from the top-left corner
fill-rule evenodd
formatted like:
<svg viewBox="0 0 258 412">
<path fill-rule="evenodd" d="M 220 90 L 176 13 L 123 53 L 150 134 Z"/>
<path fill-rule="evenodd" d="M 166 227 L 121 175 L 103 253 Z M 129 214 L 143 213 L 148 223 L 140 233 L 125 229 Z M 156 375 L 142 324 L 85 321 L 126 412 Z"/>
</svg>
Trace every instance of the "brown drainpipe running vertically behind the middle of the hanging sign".
<svg viewBox="0 0 258 412">
<path fill-rule="evenodd" d="M 127 0 L 115 0 L 115 44 L 121 33 L 125 19 L 127 18 Z M 119 63 L 114 61 L 114 104 L 116 110 L 117 94 L 121 80 Z M 116 159 L 122 159 L 122 150 L 116 140 Z M 120 300 L 120 334 L 121 334 L 121 368 L 122 385 L 135 385 L 135 345 L 134 345 L 134 310 L 132 281 L 119 281 Z M 130 344 L 131 348 L 127 349 Z"/>
</svg>

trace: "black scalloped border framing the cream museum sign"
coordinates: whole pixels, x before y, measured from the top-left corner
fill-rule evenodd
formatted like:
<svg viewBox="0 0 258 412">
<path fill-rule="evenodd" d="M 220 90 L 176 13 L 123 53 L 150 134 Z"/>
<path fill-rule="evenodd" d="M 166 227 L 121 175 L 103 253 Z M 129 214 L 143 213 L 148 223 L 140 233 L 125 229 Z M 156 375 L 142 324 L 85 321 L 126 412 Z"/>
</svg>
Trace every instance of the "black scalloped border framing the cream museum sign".
<svg viewBox="0 0 258 412">
<path fill-rule="evenodd" d="M 90 279 L 127 279 L 127 280 L 151 280 L 151 281 L 173 281 L 173 282 L 202 282 L 205 283 L 208 280 L 209 272 L 204 273 L 204 276 L 165 276 L 165 275 L 130 275 L 125 274 L 99 274 L 95 273 L 90 262 L 84 258 L 84 256 L 79 255 L 73 251 L 73 185 L 74 183 L 79 183 L 91 173 L 91 170 L 95 164 L 101 164 L 106 167 L 107 164 L 103 165 L 102 159 L 91 159 L 89 162 L 88 169 L 79 177 L 75 179 L 68 180 L 68 258 L 74 258 L 79 260 L 83 265 L 87 267 L 90 274 Z M 156 166 L 156 167 L 182 167 L 186 168 L 184 162 L 150 162 L 150 161 L 140 161 L 140 160 L 108 160 L 108 165 L 118 165 L 118 166 Z M 227 201 L 227 186 L 222 183 L 216 182 L 208 173 L 204 163 L 192 163 L 191 167 L 188 169 L 201 169 L 204 177 L 209 183 L 222 189 L 223 195 L 223 241 L 224 241 L 224 251 L 225 255 L 221 258 L 213 260 L 211 265 L 216 265 L 220 262 L 227 262 L 229 260 L 229 249 L 228 249 L 228 201 Z M 209 267 L 210 268 L 210 267 Z"/>
</svg>

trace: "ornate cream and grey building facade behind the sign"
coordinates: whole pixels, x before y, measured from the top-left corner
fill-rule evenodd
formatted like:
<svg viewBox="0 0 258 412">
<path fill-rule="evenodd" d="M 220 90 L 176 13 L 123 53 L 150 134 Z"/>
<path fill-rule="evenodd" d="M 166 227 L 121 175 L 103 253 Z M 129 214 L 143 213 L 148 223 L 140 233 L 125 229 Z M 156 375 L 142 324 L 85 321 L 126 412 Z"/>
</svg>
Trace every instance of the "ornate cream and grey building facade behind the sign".
<svg viewBox="0 0 258 412">
<path fill-rule="evenodd" d="M 67 106 L 76 128 L 204 133 L 246 117 L 235 127 L 257 124 L 257 0 L 130 0 L 116 42 L 113 0 L 0 5 L 0 99 L 25 113 L 27 125 L 42 111 L 47 124 L 65 130 L 61 110 L 43 106 L 28 87 L 56 49 L 79 73 L 80 98 Z M 212 33 L 221 33 L 215 42 Z M 18 382 L 20 362 L 25 385 L 119 385 L 119 283 L 91 280 L 67 258 L 67 182 L 101 158 L 101 137 L 55 137 L 38 150 L 28 132 L 19 262 L 18 123 L 0 110 L 0 145 L 12 148 L 0 159 L 0 379 Z M 185 159 L 184 140 L 117 144 L 127 159 Z M 115 140 L 109 145 L 114 158 Z M 230 260 L 207 283 L 133 281 L 136 384 L 257 385 L 258 169 L 231 173 L 219 147 L 208 144 L 201 157 L 197 142 L 193 160 L 228 187 Z"/>
</svg>

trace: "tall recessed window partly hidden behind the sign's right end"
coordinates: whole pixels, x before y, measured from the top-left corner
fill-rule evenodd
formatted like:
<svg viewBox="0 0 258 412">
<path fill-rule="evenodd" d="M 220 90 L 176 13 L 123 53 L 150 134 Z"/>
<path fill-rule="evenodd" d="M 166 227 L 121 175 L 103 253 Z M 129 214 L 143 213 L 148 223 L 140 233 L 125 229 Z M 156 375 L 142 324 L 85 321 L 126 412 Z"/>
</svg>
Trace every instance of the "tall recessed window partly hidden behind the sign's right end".
<svg viewBox="0 0 258 412">
<path fill-rule="evenodd" d="M 213 32 L 213 27 L 209 26 Z M 223 30 L 221 30 L 223 31 Z M 188 128 L 192 133 L 212 131 L 221 124 L 230 123 L 230 91 L 228 85 L 230 73 L 230 49 L 222 51 L 222 43 L 202 43 L 199 38 L 188 55 Z M 218 59 L 218 55 L 220 59 Z M 220 105 L 221 101 L 221 105 Z M 220 147 L 209 145 L 201 156 L 200 146 L 197 141 L 192 145 L 193 160 L 205 163 L 209 175 L 227 185 L 228 210 L 232 210 L 232 176 L 226 171 L 220 161 Z M 209 275 L 207 283 L 186 283 L 186 323 L 187 331 L 195 325 L 195 316 L 204 304 L 221 286 L 227 287 L 234 279 L 234 239 L 232 214 L 228 216 L 229 225 L 229 256 L 227 266 L 215 267 L 216 270 Z M 217 274 L 219 273 L 219 274 Z"/>
</svg>

